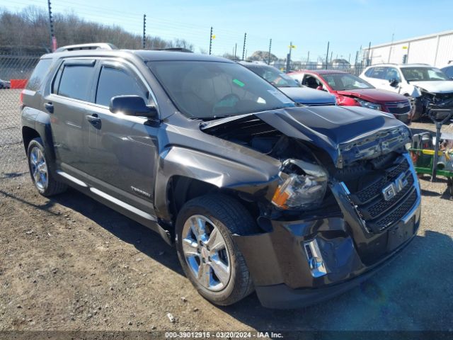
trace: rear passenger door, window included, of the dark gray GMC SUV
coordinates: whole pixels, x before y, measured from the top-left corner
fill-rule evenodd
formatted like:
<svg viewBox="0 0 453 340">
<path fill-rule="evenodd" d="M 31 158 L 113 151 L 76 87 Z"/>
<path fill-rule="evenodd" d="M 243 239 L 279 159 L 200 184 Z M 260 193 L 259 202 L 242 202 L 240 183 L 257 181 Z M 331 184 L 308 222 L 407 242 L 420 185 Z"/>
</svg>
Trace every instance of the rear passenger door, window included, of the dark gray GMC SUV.
<svg viewBox="0 0 453 340">
<path fill-rule="evenodd" d="M 71 174 L 86 171 L 84 125 L 93 96 L 95 66 L 96 60 L 64 60 L 52 80 L 51 94 L 45 97 L 57 164 Z"/>
</svg>

